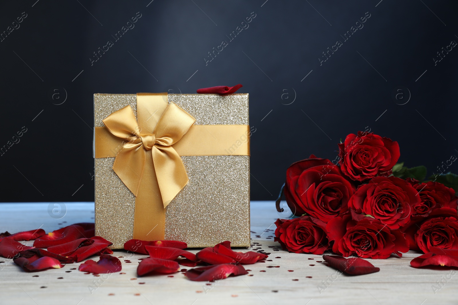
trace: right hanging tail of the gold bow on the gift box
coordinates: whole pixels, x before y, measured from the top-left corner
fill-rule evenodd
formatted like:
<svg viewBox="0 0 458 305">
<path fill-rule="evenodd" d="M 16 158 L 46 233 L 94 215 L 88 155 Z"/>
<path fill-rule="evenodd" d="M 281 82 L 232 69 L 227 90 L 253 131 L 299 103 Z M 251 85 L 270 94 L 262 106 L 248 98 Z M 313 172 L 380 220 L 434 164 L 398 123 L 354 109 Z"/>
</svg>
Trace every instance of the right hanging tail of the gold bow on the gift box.
<svg viewBox="0 0 458 305">
<path fill-rule="evenodd" d="M 152 155 L 165 208 L 188 184 L 189 179 L 183 161 L 173 147 L 154 145 Z"/>
</svg>

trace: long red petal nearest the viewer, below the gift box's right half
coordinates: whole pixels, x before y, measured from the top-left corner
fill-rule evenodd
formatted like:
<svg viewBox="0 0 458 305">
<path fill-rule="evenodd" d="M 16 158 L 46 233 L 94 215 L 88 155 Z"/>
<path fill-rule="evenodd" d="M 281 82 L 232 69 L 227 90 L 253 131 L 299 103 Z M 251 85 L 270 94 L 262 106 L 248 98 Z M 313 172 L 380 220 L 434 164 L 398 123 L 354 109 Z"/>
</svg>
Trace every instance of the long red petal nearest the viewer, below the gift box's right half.
<svg viewBox="0 0 458 305">
<path fill-rule="evenodd" d="M 230 275 L 244 275 L 248 272 L 242 265 L 219 264 L 200 268 L 194 268 L 186 271 L 185 276 L 191 281 L 210 281 L 227 278 Z"/>
</svg>

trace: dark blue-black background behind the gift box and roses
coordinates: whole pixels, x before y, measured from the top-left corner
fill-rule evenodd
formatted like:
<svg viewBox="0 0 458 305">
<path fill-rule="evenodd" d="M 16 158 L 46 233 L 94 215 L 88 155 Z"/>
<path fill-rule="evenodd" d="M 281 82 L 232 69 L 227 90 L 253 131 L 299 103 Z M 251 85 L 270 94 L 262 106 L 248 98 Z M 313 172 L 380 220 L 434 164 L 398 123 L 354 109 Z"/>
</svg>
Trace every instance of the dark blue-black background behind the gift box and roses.
<svg viewBox="0 0 458 305">
<path fill-rule="evenodd" d="M 400 161 L 431 175 L 458 156 L 458 48 L 433 60 L 458 42 L 458 4 L 379 1 L 3 1 L 0 32 L 27 17 L 0 42 L 0 146 L 27 132 L 0 156 L 1 201 L 94 200 L 93 93 L 238 83 L 256 128 L 252 200 L 275 199 L 292 162 L 311 153 L 333 160 L 340 138 L 369 128 L 398 141 Z M 137 12 L 135 27 L 114 41 Z M 114 45 L 91 65 L 108 40 Z M 206 65 L 223 40 L 228 46 Z M 320 65 L 337 40 L 343 45 Z"/>
</svg>

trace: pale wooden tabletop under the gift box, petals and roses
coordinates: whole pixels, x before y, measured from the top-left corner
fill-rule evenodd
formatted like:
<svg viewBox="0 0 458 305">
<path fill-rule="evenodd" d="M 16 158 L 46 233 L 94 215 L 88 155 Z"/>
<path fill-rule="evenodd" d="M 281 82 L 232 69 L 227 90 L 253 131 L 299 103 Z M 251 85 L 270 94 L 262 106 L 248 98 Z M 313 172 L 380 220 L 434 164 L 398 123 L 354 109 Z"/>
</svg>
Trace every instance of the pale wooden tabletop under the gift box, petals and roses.
<svg viewBox="0 0 458 305">
<path fill-rule="evenodd" d="M 0 203 L 0 232 L 38 227 L 49 232 L 94 219 L 93 203 L 58 204 L 62 209 L 54 215 L 52 209 L 59 209 L 54 203 Z M 59 212 L 57 209 L 55 212 Z M 138 259 L 147 256 L 121 250 L 114 251 L 115 256 L 124 257 L 120 258 L 121 273 L 98 276 L 78 271 L 80 263 L 26 273 L 11 259 L 0 257 L 0 304 L 458 304 L 458 275 L 451 276 L 450 270 L 410 267 L 409 262 L 418 253 L 370 260 L 380 272 L 347 276 L 327 267 L 321 262 L 322 256 L 288 253 L 281 248 L 273 251 L 273 246 L 279 246 L 273 241 L 273 222 L 279 216 L 272 201 L 251 202 L 251 230 L 256 232 L 251 238 L 253 244 L 257 243 L 253 248 L 271 254 L 264 263 L 245 265 L 251 270 L 249 275 L 213 284 L 192 282 L 182 273 L 137 278 Z M 33 241 L 23 243 L 31 246 Z"/>
</svg>

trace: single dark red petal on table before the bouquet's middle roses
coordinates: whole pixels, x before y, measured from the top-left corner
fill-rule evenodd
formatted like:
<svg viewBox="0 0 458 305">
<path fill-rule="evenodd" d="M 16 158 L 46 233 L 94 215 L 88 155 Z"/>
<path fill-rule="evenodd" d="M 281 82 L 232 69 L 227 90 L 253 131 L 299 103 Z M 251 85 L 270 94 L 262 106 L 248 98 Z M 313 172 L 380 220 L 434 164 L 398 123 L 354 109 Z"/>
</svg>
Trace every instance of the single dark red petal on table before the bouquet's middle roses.
<svg viewBox="0 0 458 305">
<path fill-rule="evenodd" d="M 331 267 L 350 275 L 362 275 L 380 271 L 380 268 L 374 267 L 370 262 L 360 257 L 345 258 L 334 255 L 323 255 L 323 259 Z"/>
</svg>

